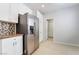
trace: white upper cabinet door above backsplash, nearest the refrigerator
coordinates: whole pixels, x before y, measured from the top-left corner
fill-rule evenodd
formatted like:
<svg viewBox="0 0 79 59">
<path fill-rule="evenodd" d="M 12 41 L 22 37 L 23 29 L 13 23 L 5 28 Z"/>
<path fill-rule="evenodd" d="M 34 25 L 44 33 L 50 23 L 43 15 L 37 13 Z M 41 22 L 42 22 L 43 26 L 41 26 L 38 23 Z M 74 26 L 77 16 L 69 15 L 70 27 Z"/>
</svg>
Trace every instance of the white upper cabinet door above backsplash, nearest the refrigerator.
<svg viewBox="0 0 79 59">
<path fill-rule="evenodd" d="M 18 4 L 17 3 L 10 4 L 10 17 L 9 17 L 9 19 L 14 23 L 18 23 Z"/>
</svg>

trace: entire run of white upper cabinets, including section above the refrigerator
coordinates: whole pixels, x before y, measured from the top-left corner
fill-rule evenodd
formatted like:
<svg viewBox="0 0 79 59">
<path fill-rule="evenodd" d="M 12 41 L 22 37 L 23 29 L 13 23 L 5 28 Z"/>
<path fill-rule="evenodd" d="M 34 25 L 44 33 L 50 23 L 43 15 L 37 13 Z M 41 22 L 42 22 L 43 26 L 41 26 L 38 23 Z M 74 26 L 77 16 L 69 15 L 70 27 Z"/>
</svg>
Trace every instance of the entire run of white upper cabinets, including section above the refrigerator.
<svg viewBox="0 0 79 59">
<path fill-rule="evenodd" d="M 32 10 L 22 3 L 0 3 L 0 20 L 18 23 L 18 14 L 32 14 Z"/>
</svg>

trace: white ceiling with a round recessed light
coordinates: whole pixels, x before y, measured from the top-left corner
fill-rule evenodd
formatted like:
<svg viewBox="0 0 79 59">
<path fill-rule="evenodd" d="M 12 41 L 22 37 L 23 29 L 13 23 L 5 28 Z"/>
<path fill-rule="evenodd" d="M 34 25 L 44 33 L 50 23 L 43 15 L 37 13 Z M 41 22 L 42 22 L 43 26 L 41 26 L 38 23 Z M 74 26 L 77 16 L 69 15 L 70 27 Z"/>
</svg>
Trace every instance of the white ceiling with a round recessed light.
<svg viewBox="0 0 79 59">
<path fill-rule="evenodd" d="M 43 14 L 51 13 L 52 11 L 77 4 L 78 3 L 25 3 L 25 5 L 27 5 L 30 9 L 39 10 Z M 44 5 L 45 7 L 41 7 L 41 5 Z"/>
</svg>

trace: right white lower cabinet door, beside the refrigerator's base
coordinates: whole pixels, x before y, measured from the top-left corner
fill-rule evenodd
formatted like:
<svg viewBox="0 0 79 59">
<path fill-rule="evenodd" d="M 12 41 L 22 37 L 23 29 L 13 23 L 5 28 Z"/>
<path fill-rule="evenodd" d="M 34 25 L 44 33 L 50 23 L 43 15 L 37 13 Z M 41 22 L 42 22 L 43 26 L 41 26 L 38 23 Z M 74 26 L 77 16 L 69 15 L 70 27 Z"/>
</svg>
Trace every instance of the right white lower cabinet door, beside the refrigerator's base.
<svg viewBox="0 0 79 59">
<path fill-rule="evenodd" d="M 23 54 L 22 36 L 17 36 L 16 37 L 16 54 L 18 54 L 18 55 Z"/>
</svg>

